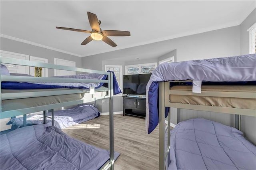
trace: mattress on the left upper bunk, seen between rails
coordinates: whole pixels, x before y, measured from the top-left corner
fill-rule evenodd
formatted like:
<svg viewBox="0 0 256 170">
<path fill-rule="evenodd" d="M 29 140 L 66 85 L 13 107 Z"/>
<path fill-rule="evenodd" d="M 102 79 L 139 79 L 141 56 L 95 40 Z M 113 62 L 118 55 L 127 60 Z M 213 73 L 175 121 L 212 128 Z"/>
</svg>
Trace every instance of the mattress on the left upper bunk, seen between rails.
<svg viewBox="0 0 256 170">
<path fill-rule="evenodd" d="M 103 87 L 102 87 L 103 88 Z M 70 89 L 30 89 L 30 90 L 7 90 L 2 89 L 2 93 L 19 93 L 19 92 L 33 92 L 33 91 L 56 91 L 56 90 L 70 90 Z M 95 97 L 103 97 L 108 94 L 108 91 L 96 91 L 93 95 L 90 93 L 77 93 L 68 95 L 54 95 L 44 97 L 31 97 L 25 99 L 9 99 L 2 100 L 2 111 L 9 111 L 15 109 L 24 109 L 29 107 L 38 107 L 44 105 L 51 105 L 56 103 L 63 103 L 68 101 L 77 101 L 90 99 Z"/>
</svg>

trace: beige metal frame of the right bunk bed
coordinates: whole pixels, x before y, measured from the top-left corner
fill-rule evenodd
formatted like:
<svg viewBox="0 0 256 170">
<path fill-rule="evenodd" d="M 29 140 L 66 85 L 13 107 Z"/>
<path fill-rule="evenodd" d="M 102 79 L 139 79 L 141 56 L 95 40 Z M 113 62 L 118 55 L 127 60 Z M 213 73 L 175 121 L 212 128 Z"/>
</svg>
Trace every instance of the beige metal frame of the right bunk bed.
<svg viewBox="0 0 256 170">
<path fill-rule="evenodd" d="M 192 93 L 192 91 L 182 90 L 170 90 L 170 82 L 184 82 L 184 81 L 166 81 L 159 82 L 159 170 L 167 169 L 170 164 L 170 112 L 167 116 L 166 125 L 165 122 L 165 107 L 178 108 L 178 114 L 180 109 L 191 109 L 198 111 L 212 111 L 219 113 L 228 113 L 235 115 L 235 127 L 240 129 L 240 116 L 255 116 L 256 111 L 254 109 L 239 109 L 230 107 L 216 107 L 216 106 L 203 106 L 203 105 L 190 105 L 182 103 L 170 102 L 170 95 L 194 95 L 194 96 L 208 96 L 208 97 L 235 97 L 235 98 L 247 98 L 256 99 L 255 92 L 225 92 L 225 91 L 202 91 L 201 93 Z M 239 115 L 236 115 L 239 114 Z M 177 123 L 180 121 L 179 115 L 177 116 Z M 166 147 L 166 132 L 167 132 L 167 147 Z M 167 159 L 167 164 L 166 164 Z"/>
</svg>

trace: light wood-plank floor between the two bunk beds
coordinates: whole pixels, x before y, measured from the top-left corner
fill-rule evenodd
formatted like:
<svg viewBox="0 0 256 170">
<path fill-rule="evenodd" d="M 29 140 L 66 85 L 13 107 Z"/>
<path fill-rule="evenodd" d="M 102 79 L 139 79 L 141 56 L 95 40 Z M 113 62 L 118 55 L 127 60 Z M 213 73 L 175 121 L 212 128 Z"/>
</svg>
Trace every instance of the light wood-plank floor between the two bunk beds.
<svg viewBox="0 0 256 170">
<path fill-rule="evenodd" d="M 73 138 L 109 150 L 108 115 L 62 130 Z M 120 153 L 115 170 L 157 170 L 158 127 L 147 134 L 144 118 L 114 115 L 114 150 Z"/>
</svg>

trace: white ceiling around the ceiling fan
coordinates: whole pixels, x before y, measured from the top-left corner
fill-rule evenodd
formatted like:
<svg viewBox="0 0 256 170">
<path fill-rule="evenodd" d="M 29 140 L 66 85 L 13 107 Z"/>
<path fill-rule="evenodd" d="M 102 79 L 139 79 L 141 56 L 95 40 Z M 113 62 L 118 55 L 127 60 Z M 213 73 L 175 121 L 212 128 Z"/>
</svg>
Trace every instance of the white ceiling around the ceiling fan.
<svg viewBox="0 0 256 170">
<path fill-rule="evenodd" d="M 3 1 L 1 37 L 47 47 L 79 57 L 236 26 L 252 12 L 256 1 Z M 109 37 L 80 45 L 91 30 L 87 12 L 101 20 L 102 30 L 130 31 L 129 37 Z"/>
</svg>

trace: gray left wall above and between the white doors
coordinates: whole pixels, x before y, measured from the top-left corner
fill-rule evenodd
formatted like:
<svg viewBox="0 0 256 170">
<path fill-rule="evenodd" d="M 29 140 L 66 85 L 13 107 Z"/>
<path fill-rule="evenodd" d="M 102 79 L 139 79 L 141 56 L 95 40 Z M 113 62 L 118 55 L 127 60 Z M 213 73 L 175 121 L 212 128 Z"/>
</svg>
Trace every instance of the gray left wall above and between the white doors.
<svg viewBox="0 0 256 170">
<path fill-rule="evenodd" d="M 38 47 L 35 45 L 10 40 L 7 38 L 0 38 L 1 46 L 0 49 L 4 51 L 10 51 L 14 53 L 32 55 L 34 57 L 41 57 L 48 59 L 48 63 L 54 64 L 54 58 L 66 59 L 76 62 L 76 67 L 82 67 L 82 58 L 74 55 L 61 53 L 51 49 Z M 54 76 L 54 70 L 48 69 L 48 76 Z"/>
</svg>

